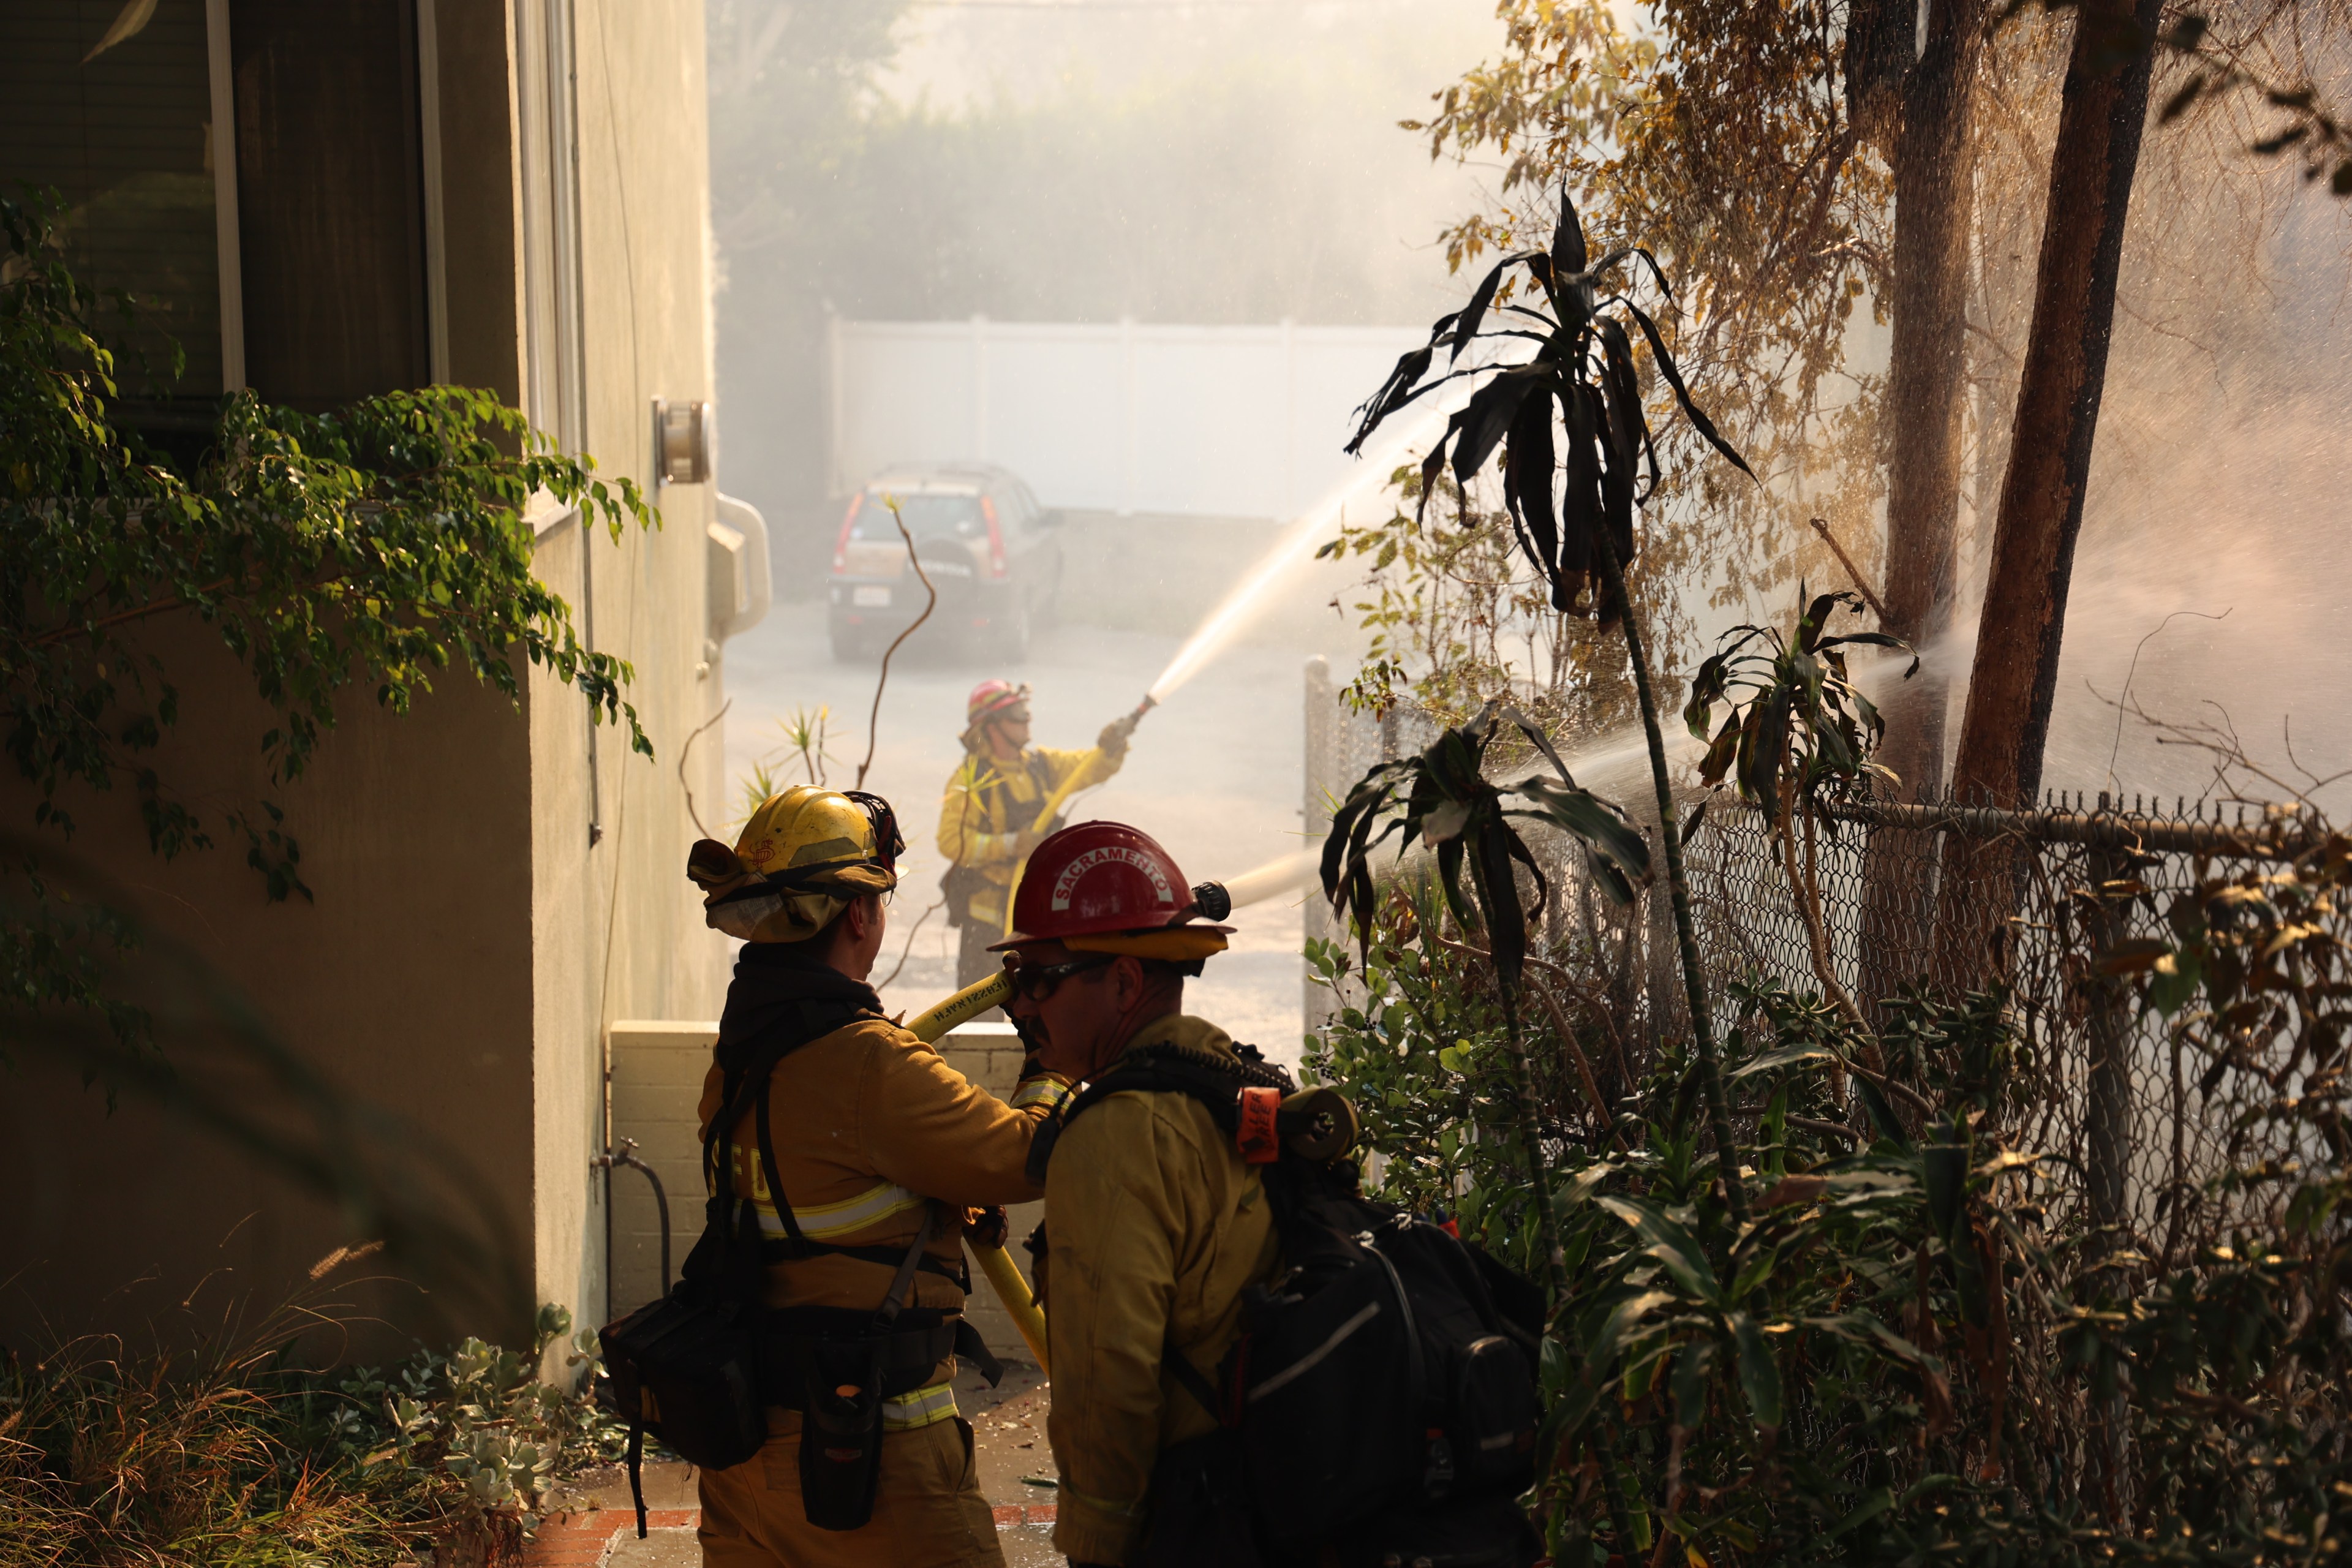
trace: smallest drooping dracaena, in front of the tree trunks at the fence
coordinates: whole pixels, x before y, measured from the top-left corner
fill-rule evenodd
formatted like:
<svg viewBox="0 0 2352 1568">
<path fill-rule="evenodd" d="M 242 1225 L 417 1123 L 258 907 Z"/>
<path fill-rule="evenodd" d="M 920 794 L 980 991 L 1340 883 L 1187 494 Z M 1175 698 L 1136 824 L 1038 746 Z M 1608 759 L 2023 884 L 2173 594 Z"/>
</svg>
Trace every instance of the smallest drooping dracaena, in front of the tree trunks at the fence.
<svg viewBox="0 0 2352 1568">
<path fill-rule="evenodd" d="M 1691 677 L 1691 701 L 1682 710 L 1696 741 L 1708 743 L 1698 778 L 1710 790 L 1731 780 L 1733 792 L 1764 813 L 1771 839 L 1780 849 L 1790 898 L 1804 919 L 1813 957 L 1813 978 L 1863 1039 L 1870 1025 L 1853 997 L 1837 980 L 1828 926 L 1820 917 L 1820 809 L 1870 790 L 1872 778 L 1893 773 L 1872 762 L 1886 719 L 1863 696 L 1846 672 L 1849 646 L 1907 649 L 1891 632 L 1830 635 L 1830 616 L 1839 607 L 1863 611 L 1851 592 L 1806 597 L 1804 611 L 1785 635 L 1776 625 L 1736 625 L 1724 632 L 1715 654 Z M 1903 679 L 1919 670 L 1915 656 Z M 1708 733 L 1717 705 L 1724 722 Z M 1698 806 L 1705 811 L 1705 804 Z M 1696 827 L 1698 813 L 1691 816 Z M 1804 865 L 1797 863 L 1797 827 L 1804 827 Z M 1684 830 L 1689 832 L 1689 827 Z"/>
</svg>

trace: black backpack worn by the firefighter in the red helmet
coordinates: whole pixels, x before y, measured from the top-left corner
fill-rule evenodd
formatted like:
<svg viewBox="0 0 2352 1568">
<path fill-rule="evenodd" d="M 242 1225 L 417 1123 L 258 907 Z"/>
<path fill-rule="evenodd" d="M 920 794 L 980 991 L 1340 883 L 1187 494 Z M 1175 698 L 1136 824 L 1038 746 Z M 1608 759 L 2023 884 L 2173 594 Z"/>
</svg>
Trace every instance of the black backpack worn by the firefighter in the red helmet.
<svg viewBox="0 0 2352 1568">
<path fill-rule="evenodd" d="M 1331 1091 L 1296 1093 L 1263 1060 L 1145 1046 L 1063 1126 L 1129 1091 L 1209 1107 L 1261 1164 L 1282 1241 L 1282 1269 L 1242 1298 L 1242 1335 L 1214 1380 L 1167 1347 L 1218 1432 L 1160 1455 L 1136 1568 L 1534 1563 L 1541 1542 L 1515 1497 L 1536 1479 L 1536 1286 L 1367 1199 L 1331 1152 L 1350 1143 L 1331 1121 L 1352 1131 Z"/>
</svg>

